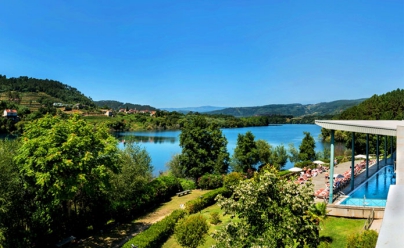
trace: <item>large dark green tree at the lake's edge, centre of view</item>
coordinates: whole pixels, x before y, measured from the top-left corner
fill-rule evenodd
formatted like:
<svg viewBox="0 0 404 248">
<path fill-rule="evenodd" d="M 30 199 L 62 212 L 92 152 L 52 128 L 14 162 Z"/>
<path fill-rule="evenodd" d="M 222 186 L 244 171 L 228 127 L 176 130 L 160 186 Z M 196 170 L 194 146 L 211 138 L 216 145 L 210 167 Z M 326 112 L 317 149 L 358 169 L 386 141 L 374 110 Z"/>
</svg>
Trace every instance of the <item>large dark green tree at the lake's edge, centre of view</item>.
<svg viewBox="0 0 404 248">
<path fill-rule="evenodd" d="M 180 134 L 180 167 L 185 176 L 197 180 L 206 173 L 227 173 L 227 140 L 216 124 L 203 116 L 190 117 Z"/>
</svg>

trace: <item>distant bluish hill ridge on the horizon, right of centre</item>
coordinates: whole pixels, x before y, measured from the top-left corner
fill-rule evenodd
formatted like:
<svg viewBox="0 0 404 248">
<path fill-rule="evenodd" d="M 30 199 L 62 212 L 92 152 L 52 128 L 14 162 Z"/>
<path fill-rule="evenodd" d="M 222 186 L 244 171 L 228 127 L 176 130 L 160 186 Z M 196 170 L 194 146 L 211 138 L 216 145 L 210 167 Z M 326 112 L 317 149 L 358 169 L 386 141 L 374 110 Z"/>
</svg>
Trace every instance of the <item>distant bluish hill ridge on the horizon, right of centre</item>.
<svg viewBox="0 0 404 248">
<path fill-rule="evenodd" d="M 226 114 L 236 117 L 247 117 L 256 115 L 292 115 L 295 117 L 309 115 L 335 115 L 347 108 L 356 106 L 365 99 L 338 100 L 333 102 L 322 102 L 317 104 L 271 104 L 256 107 L 225 108 L 211 111 L 209 114 Z"/>
</svg>

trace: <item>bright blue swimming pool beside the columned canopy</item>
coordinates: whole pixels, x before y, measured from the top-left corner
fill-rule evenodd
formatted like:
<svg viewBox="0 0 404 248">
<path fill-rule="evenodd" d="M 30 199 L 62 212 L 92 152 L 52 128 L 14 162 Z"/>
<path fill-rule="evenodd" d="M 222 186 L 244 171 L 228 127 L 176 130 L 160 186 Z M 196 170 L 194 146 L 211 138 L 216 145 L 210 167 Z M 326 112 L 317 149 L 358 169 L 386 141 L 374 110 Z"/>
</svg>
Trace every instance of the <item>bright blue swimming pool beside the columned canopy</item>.
<svg viewBox="0 0 404 248">
<path fill-rule="evenodd" d="M 385 207 L 390 185 L 396 184 L 394 168 L 385 166 L 352 191 L 340 204 L 365 207 Z"/>
</svg>

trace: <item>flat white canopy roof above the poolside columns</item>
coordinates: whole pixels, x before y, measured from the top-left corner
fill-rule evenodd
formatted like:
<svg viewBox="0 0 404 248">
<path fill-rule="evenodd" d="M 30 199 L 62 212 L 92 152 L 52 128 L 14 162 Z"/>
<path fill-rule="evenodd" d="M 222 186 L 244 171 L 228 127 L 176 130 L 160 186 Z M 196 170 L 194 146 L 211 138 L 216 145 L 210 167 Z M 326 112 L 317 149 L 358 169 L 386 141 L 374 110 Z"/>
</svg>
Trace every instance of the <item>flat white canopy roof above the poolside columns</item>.
<svg viewBox="0 0 404 248">
<path fill-rule="evenodd" d="M 387 136 L 397 136 L 397 126 L 404 126 L 404 121 L 316 120 L 315 123 L 325 129 Z"/>
</svg>

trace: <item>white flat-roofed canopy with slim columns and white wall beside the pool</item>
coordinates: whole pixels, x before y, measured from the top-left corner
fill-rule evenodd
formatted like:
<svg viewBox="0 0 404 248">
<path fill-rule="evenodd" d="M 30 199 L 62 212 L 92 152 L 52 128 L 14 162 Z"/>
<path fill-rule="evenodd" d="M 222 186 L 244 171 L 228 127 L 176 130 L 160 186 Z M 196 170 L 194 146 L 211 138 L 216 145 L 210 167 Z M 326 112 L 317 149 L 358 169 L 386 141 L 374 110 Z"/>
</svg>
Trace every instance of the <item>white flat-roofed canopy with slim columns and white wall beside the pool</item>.
<svg viewBox="0 0 404 248">
<path fill-rule="evenodd" d="M 354 133 L 366 134 L 366 156 L 369 156 L 369 135 L 377 135 L 376 161 L 379 168 L 379 140 L 385 139 L 385 145 L 390 137 L 396 137 L 396 185 L 392 185 L 387 197 L 385 214 L 377 241 L 377 247 L 401 247 L 404 244 L 404 121 L 365 121 L 365 120 L 316 120 L 315 123 L 323 128 L 331 130 L 331 157 L 330 175 L 334 174 L 334 132 L 335 130 L 352 132 L 352 166 L 351 175 L 354 175 Z M 387 152 L 387 148 L 384 149 Z M 390 151 L 393 154 L 393 151 Z M 387 159 L 385 154 L 385 159 Z M 391 156 L 392 158 L 393 156 Z M 366 176 L 368 176 L 368 161 L 366 159 Z M 385 161 L 387 163 L 387 161 Z M 386 164 L 385 163 L 385 164 Z M 390 161 L 391 164 L 394 161 Z M 330 177 L 330 185 L 333 185 L 333 177 Z M 354 188 L 354 178 L 351 180 L 351 189 Z M 333 202 L 333 188 L 330 187 L 329 203 Z"/>
</svg>

